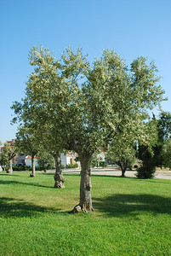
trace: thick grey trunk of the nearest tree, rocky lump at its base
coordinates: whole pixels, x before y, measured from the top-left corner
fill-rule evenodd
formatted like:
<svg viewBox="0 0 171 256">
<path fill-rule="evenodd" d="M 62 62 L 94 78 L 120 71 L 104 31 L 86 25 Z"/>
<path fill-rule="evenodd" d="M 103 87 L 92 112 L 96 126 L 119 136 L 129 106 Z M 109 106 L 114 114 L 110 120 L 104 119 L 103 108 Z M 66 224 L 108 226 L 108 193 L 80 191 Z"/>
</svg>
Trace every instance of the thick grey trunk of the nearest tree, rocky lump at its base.
<svg viewBox="0 0 171 256">
<path fill-rule="evenodd" d="M 91 157 L 92 154 L 81 154 L 81 182 L 80 182 L 80 202 L 74 207 L 72 212 L 89 212 L 93 211 L 92 198 L 91 198 Z"/>
</svg>

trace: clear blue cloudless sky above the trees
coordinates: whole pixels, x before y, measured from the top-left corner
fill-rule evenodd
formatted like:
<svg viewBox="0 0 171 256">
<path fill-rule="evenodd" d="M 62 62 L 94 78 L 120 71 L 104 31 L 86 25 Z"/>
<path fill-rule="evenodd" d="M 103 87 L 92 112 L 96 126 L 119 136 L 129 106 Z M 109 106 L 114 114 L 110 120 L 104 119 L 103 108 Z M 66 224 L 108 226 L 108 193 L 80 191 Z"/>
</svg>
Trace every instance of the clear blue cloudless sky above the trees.
<svg viewBox="0 0 171 256">
<path fill-rule="evenodd" d="M 42 44 L 60 57 L 83 48 L 89 61 L 115 49 L 129 64 L 154 59 L 171 112 L 171 0 L 0 0 L 0 140 L 14 138 L 12 106 L 24 96 L 28 51 Z"/>
</svg>

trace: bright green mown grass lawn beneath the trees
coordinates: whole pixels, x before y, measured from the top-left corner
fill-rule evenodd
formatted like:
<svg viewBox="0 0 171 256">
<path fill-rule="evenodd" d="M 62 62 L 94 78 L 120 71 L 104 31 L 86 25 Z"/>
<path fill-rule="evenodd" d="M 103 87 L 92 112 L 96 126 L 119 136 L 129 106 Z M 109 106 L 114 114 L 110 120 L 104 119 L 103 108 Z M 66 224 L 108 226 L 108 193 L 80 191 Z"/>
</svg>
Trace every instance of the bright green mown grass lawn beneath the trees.
<svg viewBox="0 0 171 256">
<path fill-rule="evenodd" d="M 94 212 L 72 214 L 80 176 L 0 172 L 0 255 L 171 255 L 171 181 L 92 177 Z"/>
</svg>

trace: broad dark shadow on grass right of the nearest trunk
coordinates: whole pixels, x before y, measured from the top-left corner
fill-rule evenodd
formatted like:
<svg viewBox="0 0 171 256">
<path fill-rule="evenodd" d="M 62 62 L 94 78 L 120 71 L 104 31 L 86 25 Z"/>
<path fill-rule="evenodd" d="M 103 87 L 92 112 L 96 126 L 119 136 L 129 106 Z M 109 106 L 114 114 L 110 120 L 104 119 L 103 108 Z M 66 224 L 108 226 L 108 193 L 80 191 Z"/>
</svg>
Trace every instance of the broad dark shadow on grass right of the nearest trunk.
<svg viewBox="0 0 171 256">
<path fill-rule="evenodd" d="M 111 195 L 94 198 L 94 208 L 109 217 L 138 216 L 140 212 L 171 213 L 171 198 L 159 195 Z"/>
</svg>

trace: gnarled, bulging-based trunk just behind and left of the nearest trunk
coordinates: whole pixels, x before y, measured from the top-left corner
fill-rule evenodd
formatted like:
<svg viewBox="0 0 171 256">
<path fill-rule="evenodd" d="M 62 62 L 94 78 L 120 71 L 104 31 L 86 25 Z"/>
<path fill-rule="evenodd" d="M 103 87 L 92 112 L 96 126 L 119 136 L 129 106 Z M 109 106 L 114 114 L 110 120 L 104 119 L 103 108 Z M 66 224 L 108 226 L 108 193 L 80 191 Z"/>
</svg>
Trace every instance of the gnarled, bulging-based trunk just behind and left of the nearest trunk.
<svg viewBox="0 0 171 256">
<path fill-rule="evenodd" d="M 55 161 L 55 173 L 54 173 L 54 188 L 64 189 L 65 188 L 65 177 L 62 175 L 60 155 L 54 155 Z"/>
</svg>

